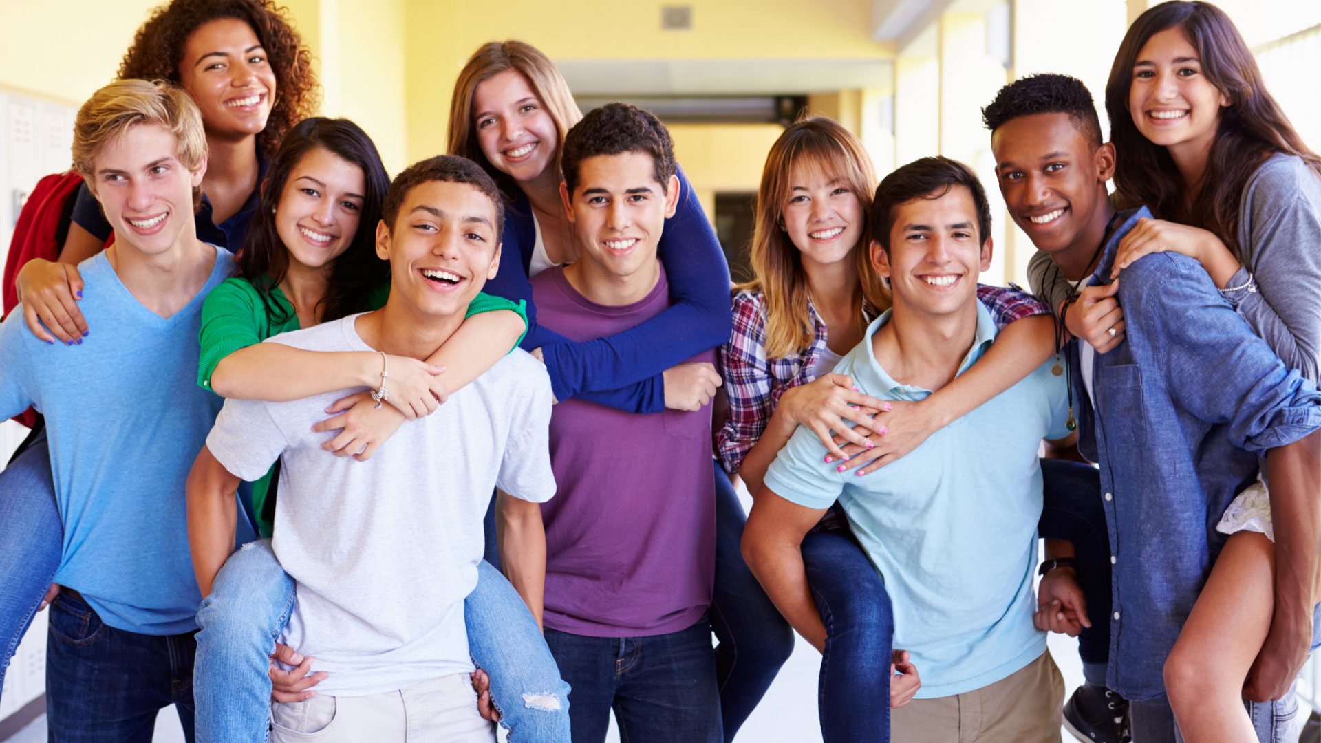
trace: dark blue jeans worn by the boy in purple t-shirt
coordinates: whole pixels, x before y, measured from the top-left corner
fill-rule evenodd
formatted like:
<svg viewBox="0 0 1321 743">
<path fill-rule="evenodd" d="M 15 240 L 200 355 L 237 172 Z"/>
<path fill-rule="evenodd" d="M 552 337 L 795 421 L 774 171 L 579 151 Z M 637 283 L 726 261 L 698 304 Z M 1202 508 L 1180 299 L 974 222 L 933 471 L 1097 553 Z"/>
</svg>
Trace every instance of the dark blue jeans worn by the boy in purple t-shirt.
<svg viewBox="0 0 1321 743">
<path fill-rule="evenodd" d="M 546 628 L 573 686 L 573 743 L 601 743 L 610 710 L 627 743 L 720 743 L 711 623 L 649 637 L 589 637 Z"/>
</svg>

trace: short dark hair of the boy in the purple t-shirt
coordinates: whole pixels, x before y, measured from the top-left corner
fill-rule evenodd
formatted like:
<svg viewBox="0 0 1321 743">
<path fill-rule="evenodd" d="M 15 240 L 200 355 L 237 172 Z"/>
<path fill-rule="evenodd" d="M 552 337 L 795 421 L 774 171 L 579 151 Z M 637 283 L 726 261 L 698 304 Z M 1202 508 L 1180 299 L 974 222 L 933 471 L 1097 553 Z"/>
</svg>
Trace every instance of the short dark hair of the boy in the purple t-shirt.
<svg viewBox="0 0 1321 743">
<path fill-rule="evenodd" d="M 668 188 L 670 176 L 678 165 L 674 161 L 674 140 L 655 115 L 627 103 L 606 103 L 583 116 L 564 137 L 560 167 L 569 198 L 579 185 L 579 167 L 583 160 L 597 155 L 638 152 L 650 155 L 655 165 L 657 182 Z"/>
</svg>

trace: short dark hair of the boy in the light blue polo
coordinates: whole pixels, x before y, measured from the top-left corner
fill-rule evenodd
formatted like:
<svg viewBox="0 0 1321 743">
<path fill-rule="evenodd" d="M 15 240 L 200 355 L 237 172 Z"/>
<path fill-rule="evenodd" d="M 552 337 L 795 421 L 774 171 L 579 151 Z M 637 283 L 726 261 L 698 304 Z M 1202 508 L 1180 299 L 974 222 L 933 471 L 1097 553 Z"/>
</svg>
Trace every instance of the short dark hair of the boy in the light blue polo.
<svg viewBox="0 0 1321 743">
<path fill-rule="evenodd" d="M 991 237 L 991 205 L 987 202 L 987 192 L 971 168 L 945 156 L 914 160 L 885 176 L 881 185 L 876 186 L 871 214 L 872 239 L 889 254 L 894 210 L 914 198 L 941 198 L 954 186 L 964 186 L 972 193 L 972 204 L 978 209 L 978 241 L 985 245 Z"/>
</svg>

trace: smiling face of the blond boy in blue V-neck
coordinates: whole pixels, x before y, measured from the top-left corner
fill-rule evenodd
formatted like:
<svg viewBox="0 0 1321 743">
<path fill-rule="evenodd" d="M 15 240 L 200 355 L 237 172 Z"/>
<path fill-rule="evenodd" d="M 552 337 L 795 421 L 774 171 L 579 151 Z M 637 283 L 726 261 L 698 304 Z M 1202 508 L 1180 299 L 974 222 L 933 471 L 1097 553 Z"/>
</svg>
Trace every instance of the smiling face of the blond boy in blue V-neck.
<svg viewBox="0 0 1321 743">
<path fill-rule="evenodd" d="M 161 255 L 197 239 L 193 188 L 206 172 L 178 160 L 178 139 L 160 124 L 135 124 L 111 139 L 92 159 L 87 186 L 100 201 L 116 245 Z"/>
</svg>

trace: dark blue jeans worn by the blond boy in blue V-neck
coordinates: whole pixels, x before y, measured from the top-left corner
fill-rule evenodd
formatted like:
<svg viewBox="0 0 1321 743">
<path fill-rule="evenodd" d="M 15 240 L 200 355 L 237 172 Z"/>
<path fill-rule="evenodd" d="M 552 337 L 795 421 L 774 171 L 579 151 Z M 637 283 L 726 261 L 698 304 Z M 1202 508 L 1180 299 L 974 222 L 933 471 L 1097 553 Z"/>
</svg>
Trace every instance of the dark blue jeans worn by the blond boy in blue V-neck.
<svg viewBox="0 0 1321 743">
<path fill-rule="evenodd" d="M 115 629 L 79 599 L 50 603 L 46 728 L 52 743 L 151 743 L 156 715 L 174 705 L 193 743 L 193 652 L 184 635 Z"/>
</svg>

